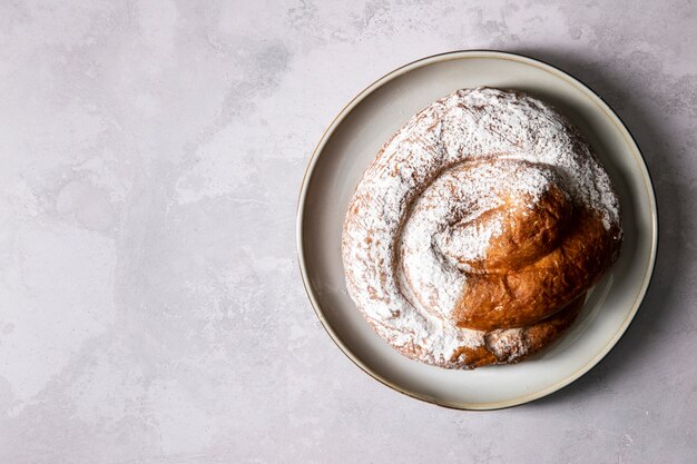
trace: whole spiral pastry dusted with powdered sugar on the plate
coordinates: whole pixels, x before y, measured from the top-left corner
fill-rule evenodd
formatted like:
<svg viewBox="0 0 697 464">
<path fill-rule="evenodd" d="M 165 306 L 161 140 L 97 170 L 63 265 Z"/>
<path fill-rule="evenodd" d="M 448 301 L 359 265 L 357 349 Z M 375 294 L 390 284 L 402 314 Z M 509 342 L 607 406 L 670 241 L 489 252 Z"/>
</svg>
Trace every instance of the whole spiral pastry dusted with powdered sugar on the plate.
<svg viewBox="0 0 697 464">
<path fill-rule="evenodd" d="M 356 187 L 346 286 L 411 358 L 516 363 L 571 325 L 617 259 L 619 216 L 607 172 L 552 108 L 458 90 L 397 130 Z"/>
</svg>

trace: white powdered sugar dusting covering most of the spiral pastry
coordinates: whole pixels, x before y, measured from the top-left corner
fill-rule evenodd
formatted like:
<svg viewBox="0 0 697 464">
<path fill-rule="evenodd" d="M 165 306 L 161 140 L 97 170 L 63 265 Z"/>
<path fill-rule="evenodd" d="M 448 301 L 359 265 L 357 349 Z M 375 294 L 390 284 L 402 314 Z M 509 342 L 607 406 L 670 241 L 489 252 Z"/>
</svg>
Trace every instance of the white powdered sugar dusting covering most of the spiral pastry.
<svg viewBox="0 0 697 464">
<path fill-rule="evenodd" d="M 519 161 L 529 161 L 520 164 Z M 485 258 L 501 233 L 502 191 L 530 207 L 550 184 L 619 227 L 609 177 L 566 119 L 522 93 L 459 90 L 416 113 L 364 174 L 344 224 L 350 295 L 377 333 L 420 361 L 455 366 L 484 334 L 448 315 L 465 282 L 462 260 Z M 490 337 L 497 349 L 518 329 Z M 500 351 L 507 349 L 503 345 Z"/>
</svg>

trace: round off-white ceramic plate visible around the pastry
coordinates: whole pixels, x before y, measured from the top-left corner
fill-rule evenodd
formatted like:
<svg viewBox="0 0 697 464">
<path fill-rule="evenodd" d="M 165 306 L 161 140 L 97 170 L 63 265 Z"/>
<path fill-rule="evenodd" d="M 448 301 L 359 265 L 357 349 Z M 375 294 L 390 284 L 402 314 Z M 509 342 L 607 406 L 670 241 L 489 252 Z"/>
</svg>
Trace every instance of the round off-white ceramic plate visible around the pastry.
<svg viewBox="0 0 697 464">
<path fill-rule="evenodd" d="M 448 371 L 408 359 L 363 319 L 346 294 L 341 259 L 344 214 L 377 150 L 412 115 L 455 89 L 490 86 L 530 92 L 569 117 L 595 147 L 619 192 L 625 243 L 619 261 L 590 293 L 573 327 L 517 365 Z M 301 272 L 312 305 L 359 367 L 406 395 L 463 409 L 514 406 L 579 378 L 615 346 L 646 294 L 657 246 L 656 199 L 629 131 L 588 87 L 552 66 L 499 51 L 429 57 L 381 78 L 327 128 L 303 180 L 297 210 Z"/>
</svg>

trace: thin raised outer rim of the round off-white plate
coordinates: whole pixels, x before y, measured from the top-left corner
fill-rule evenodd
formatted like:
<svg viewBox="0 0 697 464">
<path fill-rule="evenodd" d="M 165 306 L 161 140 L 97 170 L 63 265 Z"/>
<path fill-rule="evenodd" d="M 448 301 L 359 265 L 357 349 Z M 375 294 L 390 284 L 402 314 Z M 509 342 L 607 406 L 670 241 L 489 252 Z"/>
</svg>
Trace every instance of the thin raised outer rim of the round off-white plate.
<svg viewBox="0 0 697 464">
<path fill-rule="evenodd" d="M 543 388 L 541 391 L 533 392 L 531 394 L 523 395 L 517 398 L 512 398 L 509 401 L 502 401 L 502 402 L 495 402 L 495 403 L 477 403 L 477 404 L 439 402 L 438 398 L 413 393 L 384 378 L 382 375 L 380 375 L 379 373 L 367 367 L 357 356 L 355 356 L 351 352 L 351 349 L 336 335 L 331 324 L 324 316 L 324 312 L 320 305 L 320 302 L 317 300 L 317 297 L 310 282 L 310 277 L 307 275 L 307 264 L 305 260 L 304 228 L 303 228 L 303 218 L 304 218 L 304 213 L 305 213 L 307 189 L 308 189 L 310 180 L 314 174 L 315 166 L 317 165 L 317 161 L 323 152 L 323 149 L 326 142 L 330 140 L 331 136 L 334 134 L 334 131 L 341 125 L 341 122 L 346 118 L 346 116 L 348 116 L 351 111 L 353 111 L 353 109 L 361 101 L 367 98 L 373 91 L 375 91 L 383 85 L 390 82 L 391 80 L 402 75 L 405 75 L 406 72 L 410 72 L 414 69 L 418 69 L 424 66 L 430 66 L 432 63 L 440 62 L 440 61 L 450 61 L 450 60 L 455 60 L 455 59 L 468 59 L 468 58 L 504 59 L 509 61 L 517 61 L 523 65 L 533 66 L 544 71 L 551 72 L 552 75 L 556 75 L 558 78 L 566 80 L 567 82 L 573 85 L 576 88 L 585 92 L 587 97 L 590 98 L 591 101 L 593 101 L 596 105 L 600 107 L 600 109 L 609 117 L 609 119 L 615 124 L 615 126 L 617 126 L 620 134 L 624 136 L 627 145 L 630 148 L 634 148 L 632 151 L 635 151 L 635 154 L 632 155 L 638 161 L 640 171 L 642 174 L 642 177 L 647 187 L 647 191 L 649 194 L 648 199 L 649 199 L 649 207 L 650 207 L 650 214 L 651 214 L 651 254 L 649 257 L 649 263 L 647 266 L 646 274 L 644 276 L 644 282 L 641 283 L 641 288 L 639 290 L 639 294 L 637 296 L 637 299 L 634 303 L 634 306 L 630 313 L 627 315 L 622 324 L 618 327 L 618 330 L 615 333 L 615 335 L 608 342 L 608 344 L 603 347 L 603 349 L 598 355 L 596 355 L 592 359 L 590 359 L 586 365 L 577 369 L 573 374 L 565 377 L 563 379 L 557 382 L 556 384 L 547 388 Z M 636 156 L 636 154 L 638 154 L 638 157 Z M 582 82 L 580 79 L 578 79 L 577 77 L 572 76 L 571 73 L 567 71 L 559 69 L 558 67 L 553 65 L 550 65 L 537 58 L 529 57 L 523 53 L 503 51 L 503 50 L 493 50 L 493 49 L 453 50 L 453 51 L 445 51 L 442 53 L 435 53 L 435 55 L 431 55 L 428 57 L 423 57 L 414 61 L 408 62 L 406 65 L 403 65 L 399 68 L 393 69 L 392 71 L 385 73 L 384 76 L 380 77 L 379 79 L 370 83 L 367 87 L 365 87 L 353 99 L 351 99 L 341 109 L 341 111 L 338 111 L 336 117 L 334 117 L 332 122 L 326 127 L 326 129 L 322 134 L 320 141 L 315 146 L 315 149 L 313 150 L 313 154 L 310 160 L 307 161 L 307 167 L 305 168 L 305 174 L 303 175 L 303 180 L 301 184 L 301 189 L 300 189 L 300 195 L 298 195 L 298 200 L 297 200 L 297 206 L 296 206 L 296 254 L 298 258 L 298 266 L 300 266 L 301 276 L 303 280 L 303 287 L 305 288 L 307 298 L 310 299 L 310 303 L 315 312 L 315 315 L 320 319 L 322 327 L 327 333 L 327 335 L 332 338 L 334 344 L 361 371 L 363 371 L 365 374 L 367 374 L 375 381 L 380 382 L 381 384 L 385 385 L 386 387 L 394 389 L 411 398 L 415 398 L 428 404 L 433 404 L 433 405 L 438 405 L 441 407 L 445 407 L 450 409 L 459 409 L 459 411 L 495 411 L 495 409 L 503 409 L 508 407 L 520 406 L 520 405 L 533 402 L 536 399 L 540 399 L 544 396 L 551 395 L 552 393 L 560 391 L 561 388 L 576 382 L 578 378 L 580 378 L 581 376 L 587 374 L 589 371 L 591 371 L 595 366 L 597 366 L 610 353 L 610 351 L 612 351 L 612 348 L 617 346 L 617 343 L 627 332 L 627 329 L 629 328 L 629 325 L 635 319 L 635 316 L 638 313 L 639 307 L 644 303 L 646 294 L 648 293 L 648 289 L 651 285 L 654 272 L 656 268 L 656 256 L 658 253 L 658 234 L 659 234 L 659 228 L 658 228 L 658 208 L 657 208 L 657 200 L 656 200 L 656 190 L 654 189 L 654 181 L 651 178 L 651 174 L 648 169 L 648 165 L 646 164 L 646 158 L 644 154 L 641 152 L 639 145 L 637 144 L 634 135 L 631 134 L 627 125 L 615 112 L 615 110 L 612 110 L 612 108 L 608 105 L 608 102 L 605 101 L 598 92 L 592 90 L 588 85 Z"/>
</svg>

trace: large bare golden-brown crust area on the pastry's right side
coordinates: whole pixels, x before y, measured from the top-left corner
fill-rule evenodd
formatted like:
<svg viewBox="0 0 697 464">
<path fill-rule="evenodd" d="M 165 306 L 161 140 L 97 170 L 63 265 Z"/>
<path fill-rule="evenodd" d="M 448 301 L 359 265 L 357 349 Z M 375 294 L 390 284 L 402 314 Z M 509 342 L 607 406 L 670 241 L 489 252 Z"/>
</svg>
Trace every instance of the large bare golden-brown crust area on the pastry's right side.
<svg viewBox="0 0 697 464">
<path fill-rule="evenodd" d="M 453 309 L 460 327 L 524 327 L 553 315 L 596 284 L 620 245 L 617 230 L 587 208 L 571 210 L 558 188 L 532 211 L 507 207 L 511 219 Z"/>
</svg>

